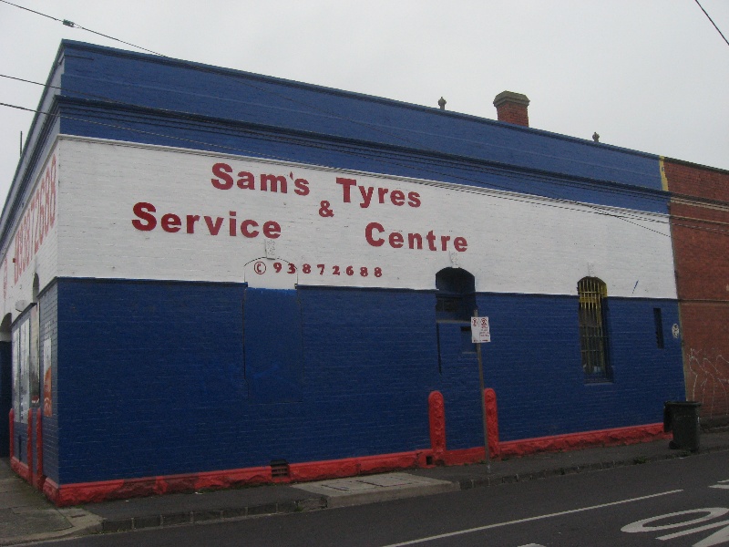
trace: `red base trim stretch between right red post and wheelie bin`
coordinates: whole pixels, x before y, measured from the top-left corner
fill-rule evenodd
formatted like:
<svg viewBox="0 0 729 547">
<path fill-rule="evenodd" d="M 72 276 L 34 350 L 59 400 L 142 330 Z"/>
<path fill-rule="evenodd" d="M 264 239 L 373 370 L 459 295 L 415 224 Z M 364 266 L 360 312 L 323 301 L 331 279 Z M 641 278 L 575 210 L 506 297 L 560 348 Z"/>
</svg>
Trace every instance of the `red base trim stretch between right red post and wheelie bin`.
<svg viewBox="0 0 729 547">
<path fill-rule="evenodd" d="M 668 439 L 663 424 L 648 424 L 631 428 L 599 429 L 583 433 L 538 437 L 536 439 L 511 440 L 499 443 L 501 456 L 525 456 L 535 452 L 557 452 L 560 450 L 587 449 L 590 447 L 613 447 L 636 444 L 656 439 Z"/>
</svg>

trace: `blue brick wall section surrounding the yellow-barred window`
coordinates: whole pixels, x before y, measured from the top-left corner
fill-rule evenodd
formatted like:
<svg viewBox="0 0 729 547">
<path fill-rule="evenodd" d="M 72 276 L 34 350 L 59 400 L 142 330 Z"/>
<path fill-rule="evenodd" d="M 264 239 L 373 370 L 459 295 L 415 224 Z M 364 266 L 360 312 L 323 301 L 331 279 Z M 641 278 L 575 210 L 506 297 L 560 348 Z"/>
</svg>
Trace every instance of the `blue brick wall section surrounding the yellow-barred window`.
<svg viewBox="0 0 729 547">
<path fill-rule="evenodd" d="M 577 297 L 486 294 L 477 302 L 490 318 L 485 374 L 498 397 L 501 440 L 657 423 L 665 400 L 683 399 L 673 301 L 608 299 L 613 381 L 601 384 L 584 382 Z M 653 307 L 663 311 L 663 349 Z"/>
</svg>

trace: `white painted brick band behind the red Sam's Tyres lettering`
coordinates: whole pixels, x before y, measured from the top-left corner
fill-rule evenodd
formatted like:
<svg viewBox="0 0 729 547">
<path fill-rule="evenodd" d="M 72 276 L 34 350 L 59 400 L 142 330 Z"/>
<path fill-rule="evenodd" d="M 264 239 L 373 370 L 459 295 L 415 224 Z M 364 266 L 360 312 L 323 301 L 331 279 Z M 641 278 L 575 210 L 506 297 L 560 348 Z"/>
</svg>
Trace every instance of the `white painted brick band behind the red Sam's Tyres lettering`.
<svg viewBox="0 0 729 547">
<path fill-rule="evenodd" d="M 479 292 L 576 294 L 578 280 L 592 272 L 608 284 L 610 296 L 676 296 L 665 215 L 197 150 L 67 137 L 59 146 L 64 161 L 58 274 L 63 276 L 433 289 L 436 272 L 456 260 L 475 275 Z M 231 166 L 234 180 L 239 171 L 257 178 L 261 173 L 282 175 L 288 192 L 241 190 L 235 184 L 217 189 L 211 179 L 217 178 L 212 168 L 218 162 Z M 375 190 L 373 203 L 363 208 L 361 193 L 353 187 L 352 202 L 345 203 L 337 177 L 365 188 L 387 188 L 386 202 L 375 202 Z M 294 193 L 297 179 L 308 181 L 308 195 Z M 416 192 L 420 206 L 395 206 L 389 201 L 394 190 L 406 196 Z M 334 216 L 320 214 L 323 201 Z M 132 225 L 139 220 L 134 213 L 139 202 L 157 209 L 158 226 L 151 232 Z M 262 235 L 247 239 L 238 230 L 231 237 L 231 211 L 239 223 L 278 222 L 281 235 L 271 238 L 268 254 L 281 261 L 267 258 Z M 159 226 L 169 212 L 181 217 L 180 232 Z M 188 214 L 221 217 L 220 233 L 210 235 L 202 219 L 194 233 L 185 233 Z M 617 218 L 621 215 L 631 222 Z M 389 232 L 402 232 L 405 246 L 368 244 L 364 232 L 370 222 L 385 227 L 385 240 Z M 438 251 L 406 248 L 408 232 L 425 237 L 430 230 L 438 236 Z M 441 235 L 451 238 L 446 252 L 440 250 Z M 467 240 L 465 252 L 453 247 L 458 236 Z M 266 266 L 265 274 L 255 273 L 257 262 Z M 280 274 L 273 273 L 276 262 L 283 265 Z M 295 264 L 295 274 L 285 273 L 288 263 Z M 311 274 L 303 274 L 305 263 L 312 266 Z M 323 275 L 316 264 L 325 264 Z M 341 269 L 338 276 L 334 265 Z M 352 276 L 345 274 L 350 265 Z M 360 274 L 362 267 L 366 277 Z M 381 277 L 375 277 L 375 267 L 382 268 Z"/>
</svg>

